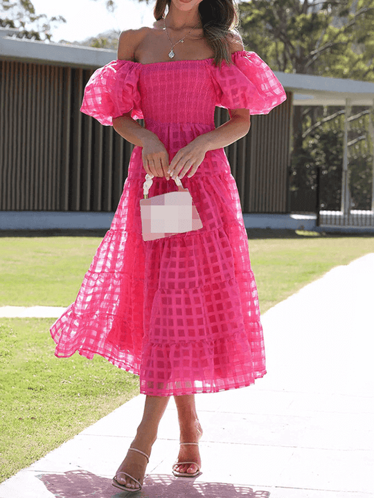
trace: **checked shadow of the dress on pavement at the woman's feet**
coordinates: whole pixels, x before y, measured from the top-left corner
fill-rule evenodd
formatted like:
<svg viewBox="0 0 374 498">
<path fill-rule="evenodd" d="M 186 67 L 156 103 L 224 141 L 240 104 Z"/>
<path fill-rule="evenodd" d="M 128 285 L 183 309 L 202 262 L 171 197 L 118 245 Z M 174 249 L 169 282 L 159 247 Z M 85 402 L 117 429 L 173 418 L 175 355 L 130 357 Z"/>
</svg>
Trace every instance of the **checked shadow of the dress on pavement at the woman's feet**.
<svg viewBox="0 0 374 498">
<path fill-rule="evenodd" d="M 129 493 L 112 486 L 112 479 L 99 477 L 84 470 L 71 470 L 64 474 L 39 474 L 46 489 L 59 498 L 270 498 L 269 491 L 253 491 L 249 486 L 224 483 L 194 482 L 192 478 L 175 478 L 166 474 L 150 474 L 140 492 Z M 188 481 L 187 481 L 188 480 Z"/>
</svg>

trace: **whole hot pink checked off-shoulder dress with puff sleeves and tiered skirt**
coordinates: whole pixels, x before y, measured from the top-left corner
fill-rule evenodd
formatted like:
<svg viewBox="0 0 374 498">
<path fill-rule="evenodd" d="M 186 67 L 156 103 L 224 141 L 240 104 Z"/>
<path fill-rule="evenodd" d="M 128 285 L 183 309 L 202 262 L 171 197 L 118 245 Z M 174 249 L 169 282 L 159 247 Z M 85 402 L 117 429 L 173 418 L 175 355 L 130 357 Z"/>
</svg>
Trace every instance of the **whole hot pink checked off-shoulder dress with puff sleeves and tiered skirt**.
<svg viewBox="0 0 374 498">
<path fill-rule="evenodd" d="M 241 50 L 213 59 L 140 64 L 114 60 L 91 76 L 81 111 L 101 124 L 132 112 L 169 152 L 215 129 L 215 106 L 267 114 L 286 99 L 269 66 Z M 184 176 L 203 228 L 143 241 L 142 148 L 80 291 L 51 326 L 55 356 L 97 353 L 140 376 L 152 396 L 236 389 L 266 374 L 255 278 L 240 198 L 224 149 Z M 154 177 L 149 195 L 177 186 Z"/>
</svg>

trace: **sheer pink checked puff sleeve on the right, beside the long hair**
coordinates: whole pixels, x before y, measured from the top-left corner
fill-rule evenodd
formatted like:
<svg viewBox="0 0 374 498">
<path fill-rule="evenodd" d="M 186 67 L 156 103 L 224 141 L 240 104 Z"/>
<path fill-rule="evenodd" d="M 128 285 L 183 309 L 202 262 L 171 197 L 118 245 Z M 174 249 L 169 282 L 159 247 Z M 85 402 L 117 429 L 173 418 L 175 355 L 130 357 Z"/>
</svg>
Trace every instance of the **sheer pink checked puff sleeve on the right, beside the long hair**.
<svg viewBox="0 0 374 498">
<path fill-rule="evenodd" d="M 255 53 L 239 50 L 233 64 L 211 64 L 216 106 L 249 109 L 250 114 L 268 114 L 286 100 L 285 90 L 267 64 Z"/>
</svg>

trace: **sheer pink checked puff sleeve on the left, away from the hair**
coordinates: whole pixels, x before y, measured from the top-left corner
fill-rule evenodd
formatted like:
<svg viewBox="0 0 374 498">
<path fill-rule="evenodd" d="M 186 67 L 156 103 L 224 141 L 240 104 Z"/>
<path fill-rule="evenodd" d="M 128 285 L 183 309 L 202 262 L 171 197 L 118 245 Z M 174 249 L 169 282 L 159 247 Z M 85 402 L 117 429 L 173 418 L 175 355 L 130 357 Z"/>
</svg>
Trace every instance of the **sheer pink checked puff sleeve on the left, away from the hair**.
<svg viewBox="0 0 374 498">
<path fill-rule="evenodd" d="M 143 119 L 139 71 L 140 64 L 122 59 L 96 69 L 84 88 L 80 111 L 105 126 L 130 111 L 133 119 Z"/>
</svg>

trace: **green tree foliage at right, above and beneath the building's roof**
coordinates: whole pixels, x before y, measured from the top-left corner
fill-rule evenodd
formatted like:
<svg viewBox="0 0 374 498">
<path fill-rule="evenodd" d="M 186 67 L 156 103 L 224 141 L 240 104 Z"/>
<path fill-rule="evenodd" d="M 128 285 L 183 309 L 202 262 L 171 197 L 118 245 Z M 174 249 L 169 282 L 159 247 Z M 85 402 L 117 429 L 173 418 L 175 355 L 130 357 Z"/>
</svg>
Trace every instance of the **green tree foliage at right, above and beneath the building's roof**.
<svg viewBox="0 0 374 498">
<path fill-rule="evenodd" d="M 374 82 L 374 0 L 250 0 L 240 3 L 240 21 L 247 50 L 258 53 L 274 71 Z M 323 194 L 324 203 L 333 209 L 339 205 L 344 112 L 295 106 L 293 113 L 291 190 L 314 190 L 316 167 L 321 167 L 321 178 L 332 189 L 330 199 Z M 370 202 L 373 151 L 367 139 L 366 119 L 361 133 L 349 142 L 356 207 Z M 355 147 L 367 150 L 357 155 Z"/>
</svg>

